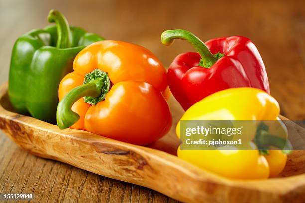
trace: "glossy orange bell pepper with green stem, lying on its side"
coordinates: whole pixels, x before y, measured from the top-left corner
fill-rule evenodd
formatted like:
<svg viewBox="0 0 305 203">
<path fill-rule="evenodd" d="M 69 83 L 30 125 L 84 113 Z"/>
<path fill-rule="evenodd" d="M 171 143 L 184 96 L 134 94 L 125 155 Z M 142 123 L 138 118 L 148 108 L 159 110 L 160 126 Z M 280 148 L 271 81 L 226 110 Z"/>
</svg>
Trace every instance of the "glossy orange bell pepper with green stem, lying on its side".
<svg viewBox="0 0 305 203">
<path fill-rule="evenodd" d="M 149 50 L 100 41 L 76 56 L 73 69 L 59 85 L 60 129 L 82 129 L 140 145 L 169 131 L 166 71 Z"/>
</svg>

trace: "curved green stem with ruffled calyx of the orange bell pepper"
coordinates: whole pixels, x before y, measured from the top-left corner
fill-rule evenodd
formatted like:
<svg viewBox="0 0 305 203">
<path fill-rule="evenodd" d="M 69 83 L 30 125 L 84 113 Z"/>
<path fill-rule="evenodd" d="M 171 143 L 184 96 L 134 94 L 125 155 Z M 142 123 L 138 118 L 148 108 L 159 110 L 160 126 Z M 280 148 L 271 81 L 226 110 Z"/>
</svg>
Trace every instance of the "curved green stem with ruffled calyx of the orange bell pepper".
<svg viewBox="0 0 305 203">
<path fill-rule="evenodd" d="M 58 103 L 56 119 L 60 129 L 65 129 L 76 123 L 80 116 L 72 111 L 72 105 L 84 97 L 84 102 L 96 105 L 104 100 L 110 89 L 110 80 L 106 72 L 93 70 L 85 76 L 84 84 L 70 90 Z"/>
</svg>

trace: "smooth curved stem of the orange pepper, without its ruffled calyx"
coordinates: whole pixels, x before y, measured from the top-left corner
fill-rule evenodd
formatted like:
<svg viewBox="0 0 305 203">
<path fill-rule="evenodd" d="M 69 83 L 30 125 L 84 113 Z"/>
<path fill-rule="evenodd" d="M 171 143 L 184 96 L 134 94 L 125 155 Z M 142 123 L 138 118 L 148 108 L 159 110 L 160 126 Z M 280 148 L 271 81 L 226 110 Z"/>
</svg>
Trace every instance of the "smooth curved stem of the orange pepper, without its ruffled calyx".
<svg viewBox="0 0 305 203">
<path fill-rule="evenodd" d="M 101 95 L 101 80 L 93 80 L 70 90 L 57 106 L 56 119 L 60 129 L 65 129 L 76 123 L 80 116 L 72 111 L 72 105 L 84 96 L 98 97 Z"/>
</svg>

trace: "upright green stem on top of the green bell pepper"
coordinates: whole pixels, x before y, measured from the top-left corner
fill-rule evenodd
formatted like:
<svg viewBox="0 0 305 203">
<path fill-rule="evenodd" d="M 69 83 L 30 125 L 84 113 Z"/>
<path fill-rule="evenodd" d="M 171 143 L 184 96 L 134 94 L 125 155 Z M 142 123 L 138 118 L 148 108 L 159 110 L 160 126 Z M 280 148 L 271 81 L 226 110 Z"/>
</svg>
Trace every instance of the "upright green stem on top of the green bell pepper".
<svg viewBox="0 0 305 203">
<path fill-rule="evenodd" d="M 55 22 L 57 27 L 57 48 L 69 48 L 70 45 L 70 26 L 63 14 L 57 10 L 50 10 L 48 22 Z"/>
</svg>

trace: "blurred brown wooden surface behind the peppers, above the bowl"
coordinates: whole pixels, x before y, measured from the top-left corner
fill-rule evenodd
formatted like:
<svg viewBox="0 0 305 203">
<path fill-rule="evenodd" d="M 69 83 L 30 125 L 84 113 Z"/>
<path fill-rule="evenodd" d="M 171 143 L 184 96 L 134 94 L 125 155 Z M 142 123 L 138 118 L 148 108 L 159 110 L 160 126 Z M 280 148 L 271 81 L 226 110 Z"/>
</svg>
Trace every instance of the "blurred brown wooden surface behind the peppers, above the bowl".
<svg viewBox="0 0 305 203">
<path fill-rule="evenodd" d="M 106 39 L 142 45 L 168 67 L 184 41 L 160 42 L 166 29 L 187 29 L 206 41 L 243 35 L 264 60 L 271 94 L 282 114 L 305 119 L 305 1 L 243 0 L 0 0 L 0 82 L 7 80 L 10 54 L 17 37 L 48 25 L 50 9 L 60 10 L 71 25 Z"/>
</svg>

